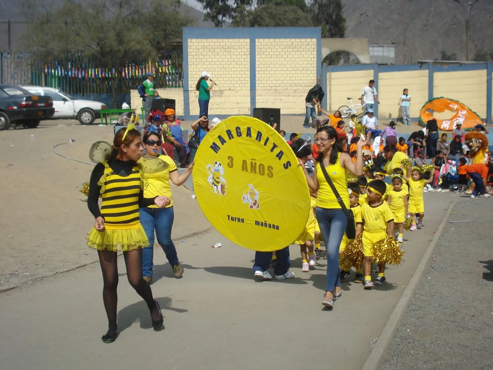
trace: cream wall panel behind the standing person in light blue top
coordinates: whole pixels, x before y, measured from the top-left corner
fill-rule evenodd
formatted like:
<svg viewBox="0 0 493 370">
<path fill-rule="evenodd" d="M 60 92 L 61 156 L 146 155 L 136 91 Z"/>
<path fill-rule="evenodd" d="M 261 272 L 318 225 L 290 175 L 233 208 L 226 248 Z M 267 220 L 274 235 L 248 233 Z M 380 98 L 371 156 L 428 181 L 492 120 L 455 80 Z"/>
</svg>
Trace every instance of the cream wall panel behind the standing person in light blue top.
<svg viewBox="0 0 493 370">
<path fill-rule="evenodd" d="M 397 103 L 404 89 L 408 89 L 411 95 L 411 117 L 418 117 L 421 107 L 428 100 L 428 70 L 379 73 L 377 91 L 380 99 L 379 117 L 401 116 L 400 106 Z"/>
</svg>

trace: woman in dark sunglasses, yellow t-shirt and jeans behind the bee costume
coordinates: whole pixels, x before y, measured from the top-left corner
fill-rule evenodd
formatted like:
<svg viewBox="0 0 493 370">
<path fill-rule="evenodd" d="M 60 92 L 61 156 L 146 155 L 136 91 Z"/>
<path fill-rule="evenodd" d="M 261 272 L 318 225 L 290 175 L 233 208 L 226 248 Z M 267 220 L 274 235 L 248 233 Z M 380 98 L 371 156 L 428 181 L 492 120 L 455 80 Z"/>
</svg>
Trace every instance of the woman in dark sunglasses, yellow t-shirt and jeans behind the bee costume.
<svg viewBox="0 0 493 370">
<path fill-rule="evenodd" d="M 165 195 L 170 198 L 170 203 L 165 208 L 154 205 L 141 207 L 141 224 L 144 227 L 149 245 L 142 249 L 142 275 L 149 284 L 152 282 L 152 259 L 154 256 L 154 230 L 156 230 L 157 242 L 161 246 L 173 269 L 173 275 L 179 279 L 183 274 L 183 268 L 176 255 L 175 244 L 171 240 L 171 228 L 175 214 L 173 211 L 173 196 L 170 188 L 170 180 L 176 186 L 182 185 L 192 173 L 194 162 L 190 163 L 183 174 L 178 174 L 175 161 L 168 155 L 160 155 L 161 140 L 154 132 L 147 132 L 143 138 L 146 155 L 158 157 L 168 163 L 168 168 L 153 175 L 146 175 L 143 179 L 144 197 L 152 198 L 156 195 Z"/>
</svg>

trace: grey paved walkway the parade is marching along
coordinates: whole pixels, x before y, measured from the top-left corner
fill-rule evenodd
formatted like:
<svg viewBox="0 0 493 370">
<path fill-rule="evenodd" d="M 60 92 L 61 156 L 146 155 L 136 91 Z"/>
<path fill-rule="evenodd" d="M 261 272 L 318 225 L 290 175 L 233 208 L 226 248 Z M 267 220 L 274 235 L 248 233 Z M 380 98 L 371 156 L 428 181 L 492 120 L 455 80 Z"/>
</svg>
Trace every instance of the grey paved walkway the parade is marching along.
<svg viewBox="0 0 493 370">
<path fill-rule="evenodd" d="M 0 294 L 0 368 L 18 369 L 360 369 L 445 215 L 451 194 L 427 193 L 425 227 L 408 232 L 405 262 L 389 267 L 373 291 L 344 283 L 332 312 L 323 309 L 326 261 L 295 278 L 255 282 L 253 252 L 216 231 L 176 243 L 185 273 L 172 278 L 156 250 L 152 290 L 166 330 L 151 329 L 147 307 L 119 260 L 119 331 L 104 344 L 106 315 L 98 264 Z M 80 236 L 82 239 L 82 236 Z M 220 242 L 221 248 L 210 246 Z M 91 252 L 95 253 L 95 252 Z M 352 276 L 353 277 L 353 276 Z M 351 277 L 351 278 L 352 278 Z"/>
</svg>

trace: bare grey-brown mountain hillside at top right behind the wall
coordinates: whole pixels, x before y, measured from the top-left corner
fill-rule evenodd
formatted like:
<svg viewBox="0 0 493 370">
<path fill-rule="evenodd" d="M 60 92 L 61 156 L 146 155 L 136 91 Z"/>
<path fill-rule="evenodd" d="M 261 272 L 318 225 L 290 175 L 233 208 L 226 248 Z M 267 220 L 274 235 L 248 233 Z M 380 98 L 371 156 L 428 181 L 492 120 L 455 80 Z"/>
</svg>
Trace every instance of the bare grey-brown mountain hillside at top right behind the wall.
<svg viewBox="0 0 493 370">
<path fill-rule="evenodd" d="M 460 0 L 466 6 L 468 0 Z M 346 37 L 395 42 L 396 64 L 403 63 L 403 0 L 343 0 Z M 465 60 L 465 14 L 454 0 L 406 0 L 407 63 L 440 59 L 441 51 Z M 493 51 L 493 0 L 479 0 L 471 12 L 469 59 Z M 412 54 L 412 60 L 411 60 Z"/>
</svg>

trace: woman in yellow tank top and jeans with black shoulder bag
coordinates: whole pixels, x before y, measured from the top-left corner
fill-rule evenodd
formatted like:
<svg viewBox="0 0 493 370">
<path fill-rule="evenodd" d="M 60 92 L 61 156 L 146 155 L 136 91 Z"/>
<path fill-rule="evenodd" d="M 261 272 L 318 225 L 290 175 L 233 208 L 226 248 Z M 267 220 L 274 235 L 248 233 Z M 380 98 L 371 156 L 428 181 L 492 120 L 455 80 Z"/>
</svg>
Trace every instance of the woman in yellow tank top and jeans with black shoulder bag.
<svg viewBox="0 0 493 370">
<path fill-rule="evenodd" d="M 363 140 L 360 138 L 357 142 L 356 163 L 352 161 L 349 154 L 343 152 L 334 127 L 320 127 L 317 130 L 317 139 L 315 142 L 318 146 L 319 154 L 313 177 L 310 176 L 301 161 L 300 166 L 305 173 L 310 190 L 314 193 L 318 191 L 315 213 L 318 224 L 320 225 L 323 242 L 327 248 L 327 281 L 322 304 L 325 307 L 332 308 L 334 306 L 334 300 L 342 295 L 339 246 L 346 231 L 348 219 L 336 195 L 325 179 L 320 166 L 325 167 L 328 177 L 342 198 L 346 208 L 349 209 L 348 171 L 355 176 L 361 176 L 363 174 L 362 148 L 369 142 L 369 139 Z"/>
</svg>

